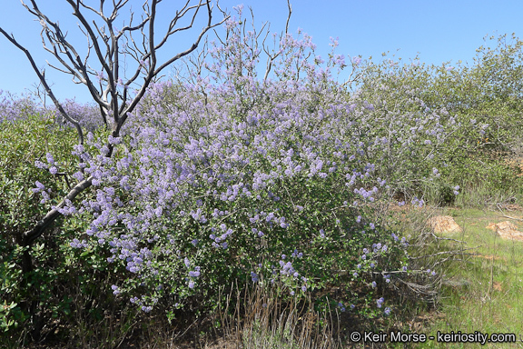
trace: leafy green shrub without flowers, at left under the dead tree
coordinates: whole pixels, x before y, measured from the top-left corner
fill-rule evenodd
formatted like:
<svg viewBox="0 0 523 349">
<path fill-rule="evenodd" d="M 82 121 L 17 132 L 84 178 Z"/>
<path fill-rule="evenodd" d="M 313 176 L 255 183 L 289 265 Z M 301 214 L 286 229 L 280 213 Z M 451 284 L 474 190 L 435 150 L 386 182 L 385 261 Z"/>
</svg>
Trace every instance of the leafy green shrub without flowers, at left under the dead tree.
<svg viewBox="0 0 523 349">
<path fill-rule="evenodd" d="M 104 316 L 104 309 L 114 300 L 106 296 L 112 283 L 107 281 L 104 254 L 80 253 L 70 245 L 85 231 L 84 221 L 59 218 L 30 248 L 20 245 L 22 234 L 75 184 L 71 176 L 78 162 L 71 154 L 77 141 L 74 130 L 59 127 L 46 115 L 5 120 L 1 126 L 0 326 L 8 344 L 37 335 L 44 324 L 50 331 L 51 319 L 74 328 L 78 307 L 88 304 L 88 316 Z M 35 165 L 36 161 L 46 163 L 47 154 L 54 157 L 55 175 Z M 49 189 L 45 203 L 32 190 L 36 181 Z M 24 251 L 33 260 L 32 270 L 25 273 Z M 81 301 L 80 294 L 84 294 Z"/>
</svg>

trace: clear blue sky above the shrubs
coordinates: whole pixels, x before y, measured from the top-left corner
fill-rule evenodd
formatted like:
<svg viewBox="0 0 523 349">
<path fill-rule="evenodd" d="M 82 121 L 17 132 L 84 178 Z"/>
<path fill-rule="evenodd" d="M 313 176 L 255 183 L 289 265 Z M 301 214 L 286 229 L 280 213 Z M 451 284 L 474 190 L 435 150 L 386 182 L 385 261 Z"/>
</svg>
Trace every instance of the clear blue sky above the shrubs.
<svg viewBox="0 0 523 349">
<path fill-rule="evenodd" d="M 98 1 L 86 1 L 99 4 Z M 27 14 L 17 1 L 4 6 L 0 12 L 0 26 L 25 45 L 34 55 L 36 64 L 44 67 L 45 60 L 52 60 L 44 53 L 40 41 L 40 25 Z M 64 1 L 40 1 L 41 8 L 64 29 L 69 28 L 69 37 L 82 50 L 84 38 L 75 32 L 76 21 L 69 5 Z M 130 1 L 139 10 L 142 1 Z M 164 0 L 159 5 L 164 19 L 176 10 L 180 1 Z M 520 0 L 293 0 L 290 32 L 296 33 L 298 27 L 312 36 L 317 45 L 317 53 L 323 57 L 330 51 L 330 37 L 339 37 L 338 54 L 363 58 L 372 56 L 379 60 L 381 53 L 395 53 L 409 61 L 419 54 L 421 62 L 441 65 L 443 62 L 459 60 L 472 63 L 476 49 L 484 45 L 486 35 L 516 33 L 523 36 L 523 1 Z M 53 4 L 53 5 L 50 5 Z M 60 7 L 57 6 L 60 5 Z M 271 23 L 272 32 L 281 32 L 287 18 L 286 0 L 222 0 L 222 8 L 232 10 L 232 6 L 243 4 L 245 9 L 252 7 L 255 22 Z M 125 17 L 127 13 L 123 13 Z M 218 14 L 215 15 L 216 18 Z M 125 17 L 126 18 L 126 17 Z M 165 22 L 163 22 L 165 23 Z M 177 36 L 168 52 L 177 52 L 179 47 L 187 47 L 189 35 Z M 399 51 L 398 51 L 399 50 Z M 0 35 L 0 89 L 20 95 L 25 89 L 33 89 L 37 84 L 35 72 L 25 55 Z M 165 73 L 169 75 L 170 70 Z M 46 68 L 55 95 L 59 99 L 75 98 L 76 101 L 89 102 L 89 94 L 84 85 L 74 85 L 69 75 Z"/>
</svg>

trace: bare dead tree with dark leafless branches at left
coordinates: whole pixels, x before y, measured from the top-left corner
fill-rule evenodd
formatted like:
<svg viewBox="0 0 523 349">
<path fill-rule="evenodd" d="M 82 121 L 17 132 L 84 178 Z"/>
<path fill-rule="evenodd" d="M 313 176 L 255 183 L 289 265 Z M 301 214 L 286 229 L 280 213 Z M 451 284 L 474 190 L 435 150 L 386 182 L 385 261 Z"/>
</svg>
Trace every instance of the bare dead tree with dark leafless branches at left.
<svg viewBox="0 0 523 349">
<path fill-rule="evenodd" d="M 163 35 L 158 37 L 156 34 L 157 5 L 162 0 L 145 1 L 142 5 L 143 15 L 138 23 L 134 23 L 134 13 L 130 11 L 128 24 L 123 23 L 121 28 L 115 26 L 115 21 L 125 5 L 128 5 L 128 0 L 113 0 L 110 5 L 105 4 L 104 0 L 100 0 L 98 7 L 87 5 L 83 0 L 66 0 L 66 2 L 73 9 L 73 15 L 78 20 L 78 27 L 87 40 L 87 53 L 83 57 L 78 54 L 78 50 L 75 48 L 77 46 L 69 41 L 66 37 L 67 33 L 64 33 L 58 22 L 54 22 L 40 10 L 37 1 L 31 0 L 25 4 L 22 0 L 22 5 L 39 20 L 42 25 L 41 37 L 44 50 L 53 55 L 60 64 L 56 66 L 48 63 L 48 65 L 64 74 L 72 75 L 75 84 L 86 86 L 94 102 L 99 105 L 104 124 L 111 130 L 113 137 L 120 135 L 120 130 L 128 115 L 138 105 L 147 87 L 160 76 L 163 69 L 183 56 L 192 53 L 210 29 L 221 25 L 229 18 L 216 5 L 223 18 L 213 23 L 213 5 L 210 0 L 198 0 L 194 4 L 191 0 L 187 0 L 184 5 L 182 4 L 182 8 L 176 11 Z M 206 25 L 196 35 L 192 45 L 160 62 L 157 52 L 166 46 L 165 44 L 170 37 L 191 29 L 200 12 L 206 15 L 207 21 Z M 188 25 L 180 25 L 179 22 L 184 17 L 190 17 Z M 1 27 L 0 33 L 25 53 L 36 75 L 38 75 L 45 93 L 49 95 L 64 119 L 74 125 L 78 134 L 78 143 L 83 144 L 82 127 L 77 120 L 67 115 L 64 107 L 47 84 L 44 71 L 37 68 L 31 53 L 25 46 L 16 41 L 13 34 L 8 35 Z M 128 60 L 133 61 L 135 67 L 132 74 L 125 75 L 123 63 L 127 63 Z M 97 69 L 97 66 L 101 68 Z M 135 92 L 133 93 L 132 90 Z M 107 156 L 111 156 L 113 145 L 108 142 L 107 147 L 109 149 Z M 73 201 L 78 194 L 90 187 L 92 180 L 93 176 L 90 176 L 75 184 L 56 208 L 48 211 L 32 229 L 23 233 L 20 239 L 21 244 L 23 246 L 33 244 L 35 239 L 41 236 L 45 229 L 60 215 L 58 209 L 64 207 L 67 200 Z M 23 264 L 25 272 L 32 269 L 31 258 L 28 253 L 25 255 Z"/>
</svg>

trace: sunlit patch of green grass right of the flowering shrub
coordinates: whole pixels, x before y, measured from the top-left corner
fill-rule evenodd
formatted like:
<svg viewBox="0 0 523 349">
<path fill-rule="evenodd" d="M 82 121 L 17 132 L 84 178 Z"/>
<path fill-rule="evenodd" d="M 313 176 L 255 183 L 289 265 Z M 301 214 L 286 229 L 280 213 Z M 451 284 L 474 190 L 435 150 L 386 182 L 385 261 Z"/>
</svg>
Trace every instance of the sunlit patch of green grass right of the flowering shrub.
<svg viewBox="0 0 523 349">
<path fill-rule="evenodd" d="M 516 334 L 516 343 L 487 343 L 484 347 L 523 347 L 523 242 L 503 240 L 487 228 L 490 223 L 510 221 L 523 231 L 523 211 L 512 208 L 440 210 L 440 214 L 452 215 L 463 228 L 462 233 L 447 236 L 478 248 L 449 266 L 443 278 L 447 285 L 442 289 L 438 313 L 431 314 L 431 324 L 418 331 L 434 336 L 438 331 Z M 479 344 L 440 344 L 436 340 L 419 344 L 423 348 L 449 346 Z"/>
</svg>

